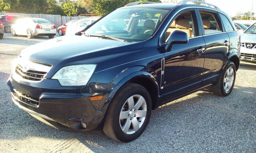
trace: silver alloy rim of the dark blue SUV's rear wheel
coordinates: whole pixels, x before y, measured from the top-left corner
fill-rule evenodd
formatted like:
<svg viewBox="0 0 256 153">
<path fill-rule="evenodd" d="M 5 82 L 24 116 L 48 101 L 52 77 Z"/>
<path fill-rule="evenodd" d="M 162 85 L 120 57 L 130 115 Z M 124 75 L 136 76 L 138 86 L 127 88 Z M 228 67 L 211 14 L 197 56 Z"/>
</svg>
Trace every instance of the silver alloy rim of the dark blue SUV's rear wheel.
<svg viewBox="0 0 256 153">
<path fill-rule="evenodd" d="M 223 80 L 223 87 L 226 92 L 230 91 L 233 85 L 234 75 L 235 75 L 234 69 L 232 67 L 228 68 Z"/>
</svg>

